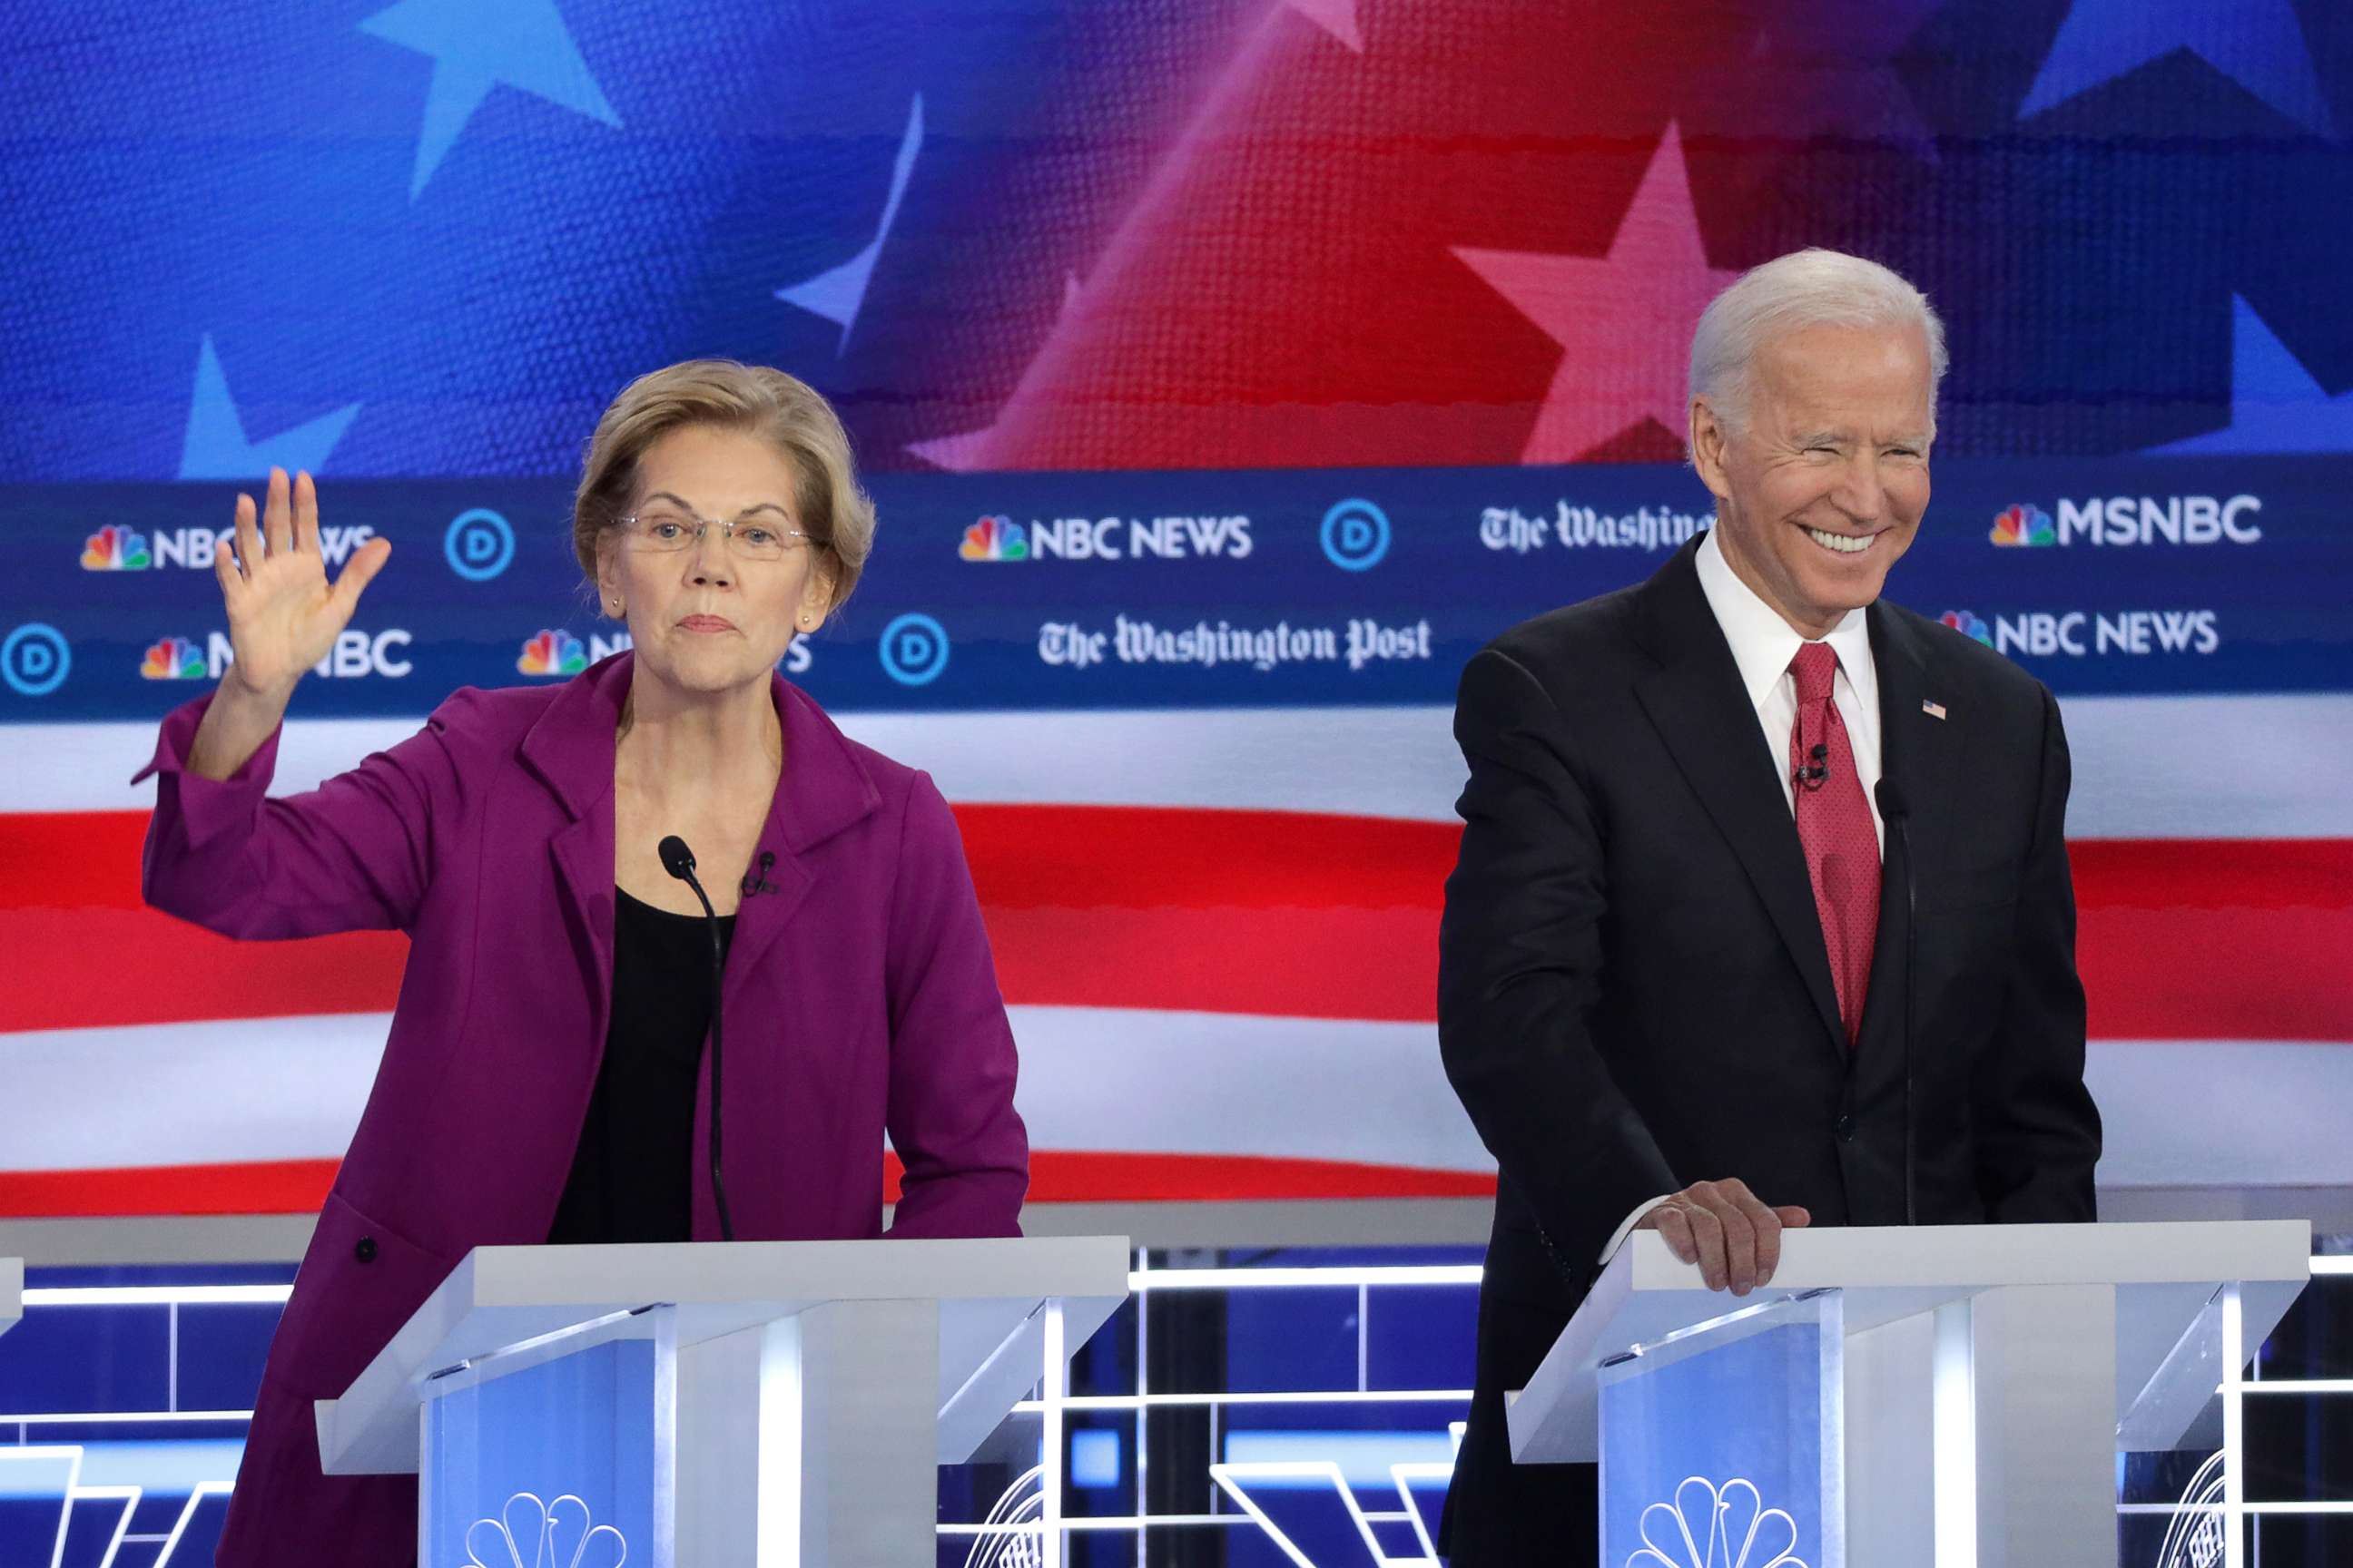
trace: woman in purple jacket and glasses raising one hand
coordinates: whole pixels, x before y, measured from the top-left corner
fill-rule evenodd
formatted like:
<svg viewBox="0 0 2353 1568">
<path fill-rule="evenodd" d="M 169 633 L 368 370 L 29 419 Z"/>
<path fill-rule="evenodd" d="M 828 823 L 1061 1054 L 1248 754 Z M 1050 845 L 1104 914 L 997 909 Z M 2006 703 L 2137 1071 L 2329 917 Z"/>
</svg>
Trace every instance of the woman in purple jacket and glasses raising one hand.
<svg viewBox="0 0 2353 1568">
<path fill-rule="evenodd" d="M 925 773 L 776 675 L 856 585 L 873 503 L 800 381 L 725 360 L 598 421 L 574 548 L 633 651 L 560 686 L 461 689 L 318 790 L 266 797 L 278 726 L 391 555 L 329 585 L 308 475 L 238 496 L 216 557 L 235 663 L 146 771 L 146 900 L 242 938 L 409 933 L 384 1063 L 254 1408 L 224 1568 L 414 1559 L 414 1479 L 322 1476 L 334 1399 L 473 1246 L 718 1239 L 711 926 L 739 1239 L 1016 1234 L 1014 1041 L 955 820 Z M 141 773 L 144 778 L 146 773 Z"/>
</svg>

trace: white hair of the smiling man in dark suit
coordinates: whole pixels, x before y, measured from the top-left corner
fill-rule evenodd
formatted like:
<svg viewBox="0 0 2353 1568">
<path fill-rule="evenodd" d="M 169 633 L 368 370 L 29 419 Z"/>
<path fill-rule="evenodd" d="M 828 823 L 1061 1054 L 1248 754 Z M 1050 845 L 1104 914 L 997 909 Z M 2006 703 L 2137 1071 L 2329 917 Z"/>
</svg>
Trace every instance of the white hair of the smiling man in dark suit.
<svg viewBox="0 0 2353 1568">
<path fill-rule="evenodd" d="M 1692 331 L 1692 397 L 1704 397 L 1725 428 L 1741 430 L 1758 350 L 1805 327 L 1918 327 L 1927 336 L 1927 428 L 1937 433 L 1944 322 L 1899 273 L 1819 247 L 1753 266 L 1708 301 Z"/>
</svg>

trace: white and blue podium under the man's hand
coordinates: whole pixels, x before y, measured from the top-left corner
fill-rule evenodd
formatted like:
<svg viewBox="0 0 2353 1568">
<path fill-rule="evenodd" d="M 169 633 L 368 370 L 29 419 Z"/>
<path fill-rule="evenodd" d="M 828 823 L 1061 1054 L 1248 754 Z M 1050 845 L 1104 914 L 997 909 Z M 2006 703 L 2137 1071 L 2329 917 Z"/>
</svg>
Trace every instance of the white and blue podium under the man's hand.
<svg viewBox="0 0 2353 1568">
<path fill-rule="evenodd" d="M 2115 1455 L 2235 1448 L 2308 1279 L 2304 1220 L 1798 1229 L 1737 1300 L 1635 1232 L 1511 1453 L 1600 1462 L 1607 1568 L 2115 1568 Z"/>
</svg>

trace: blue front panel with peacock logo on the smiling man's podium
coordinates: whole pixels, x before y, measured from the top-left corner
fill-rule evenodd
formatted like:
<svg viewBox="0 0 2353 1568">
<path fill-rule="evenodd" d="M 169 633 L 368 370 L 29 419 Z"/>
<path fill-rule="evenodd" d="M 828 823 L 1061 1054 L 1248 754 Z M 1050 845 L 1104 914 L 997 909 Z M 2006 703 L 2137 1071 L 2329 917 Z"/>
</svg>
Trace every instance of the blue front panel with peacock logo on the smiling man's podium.
<svg viewBox="0 0 2353 1568">
<path fill-rule="evenodd" d="M 1842 1568 L 1840 1307 L 1748 1307 L 1602 1368 L 1605 1563 Z"/>
</svg>

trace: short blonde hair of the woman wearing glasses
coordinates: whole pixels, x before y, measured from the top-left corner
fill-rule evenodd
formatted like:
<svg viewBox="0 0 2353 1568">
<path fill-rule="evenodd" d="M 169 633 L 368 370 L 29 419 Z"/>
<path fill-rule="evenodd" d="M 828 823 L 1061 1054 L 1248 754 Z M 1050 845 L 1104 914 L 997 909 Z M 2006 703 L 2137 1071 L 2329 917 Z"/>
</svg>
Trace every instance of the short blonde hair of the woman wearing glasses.
<svg viewBox="0 0 2353 1568">
<path fill-rule="evenodd" d="M 826 552 L 831 607 L 840 609 L 875 545 L 875 503 L 859 489 L 849 433 L 807 381 L 736 360 L 682 360 L 647 371 L 595 421 L 572 496 L 572 552 L 591 592 L 598 538 L 635 503 L 638 463 L 656 440 L 685 425 L 744 430 L 786 456 L 795 520 Z"/>
</svg>

